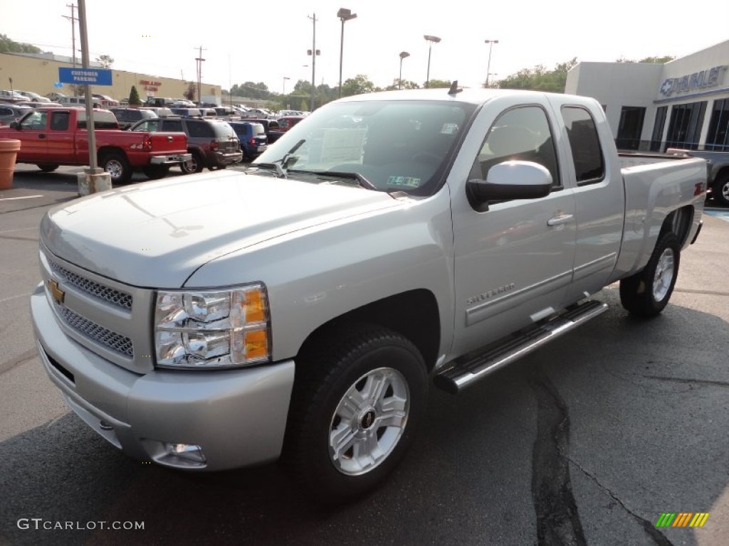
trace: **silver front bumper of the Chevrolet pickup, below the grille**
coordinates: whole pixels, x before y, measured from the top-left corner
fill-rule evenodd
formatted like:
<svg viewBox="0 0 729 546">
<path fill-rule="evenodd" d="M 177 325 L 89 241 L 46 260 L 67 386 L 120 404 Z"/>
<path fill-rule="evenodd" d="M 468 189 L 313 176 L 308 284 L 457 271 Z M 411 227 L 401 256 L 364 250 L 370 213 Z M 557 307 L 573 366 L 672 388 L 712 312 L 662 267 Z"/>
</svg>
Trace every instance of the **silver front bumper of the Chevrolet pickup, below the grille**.
<svg viewBox="0 0 729 546">
<path fill-rule="evenodd" d="M 186 470 L 226 470 L 280 455 L 293 360 L 234 371 L 139 375 L 66 336 L 42 284 L 31 296 L 31 314 L 50 380 L 86 424 L 125 453 Z M 205 462 L 171 462 L 165 442 L 200 446 Z"/>
</svg>

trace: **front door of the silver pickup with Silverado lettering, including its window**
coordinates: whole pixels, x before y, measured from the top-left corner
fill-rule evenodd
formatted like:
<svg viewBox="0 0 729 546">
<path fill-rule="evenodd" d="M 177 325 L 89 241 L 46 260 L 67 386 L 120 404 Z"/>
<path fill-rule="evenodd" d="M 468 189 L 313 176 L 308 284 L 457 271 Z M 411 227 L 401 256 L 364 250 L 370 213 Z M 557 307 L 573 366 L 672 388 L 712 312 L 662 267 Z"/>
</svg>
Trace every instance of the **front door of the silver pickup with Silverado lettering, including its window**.
<svg viewBox="0 0 729 546">
<path fill-rule="evenodd" d="M 470 178 L 486 179 L 491 167 L 511 159 L 543 165 L 553 186 L 539 199 L 453 200 L 456 354 L 561 309 L 572 282 L 575 201 L 561 183 L 544 106 L 505 108 L 486 132 Z"/>
</svg>

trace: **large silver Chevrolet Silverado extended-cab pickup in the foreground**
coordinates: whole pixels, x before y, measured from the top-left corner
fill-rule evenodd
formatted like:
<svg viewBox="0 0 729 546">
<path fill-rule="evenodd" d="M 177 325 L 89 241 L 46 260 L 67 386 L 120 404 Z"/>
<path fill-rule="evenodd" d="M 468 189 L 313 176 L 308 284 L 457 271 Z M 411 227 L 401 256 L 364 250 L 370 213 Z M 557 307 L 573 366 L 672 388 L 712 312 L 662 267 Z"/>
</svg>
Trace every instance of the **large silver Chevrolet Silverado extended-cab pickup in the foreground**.
<svg viewBox="0 0 729 546">
<path fill-rule="evenodd" d="M 660 160 L 658 160 L 660 159 Z M 405 454 L 449 392 L 598 316 L 668 303 L 703 159 L 621 167 L 599 103 L 338 100 L 252 165 L 50 210 L 31 296 L 51 381 L 99 435 L 184 470 L 281 458 L 325 499 Z"/>
</svg>

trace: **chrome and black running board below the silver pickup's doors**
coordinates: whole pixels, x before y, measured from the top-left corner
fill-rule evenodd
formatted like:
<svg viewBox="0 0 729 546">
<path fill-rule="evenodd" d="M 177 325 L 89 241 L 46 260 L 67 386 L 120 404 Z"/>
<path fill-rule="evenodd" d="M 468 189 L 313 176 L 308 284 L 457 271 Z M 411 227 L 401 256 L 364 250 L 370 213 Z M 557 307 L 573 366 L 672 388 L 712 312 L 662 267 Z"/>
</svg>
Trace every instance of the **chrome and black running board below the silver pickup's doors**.
<svg viewBox="0 0 729 546">
<path fill-rule="evenodd" d="M 515 339 L 510 339 L 471 360 L 456 361 L 455 365 L 438 373 L 433 381 L 436 387 L 454 395 L 458 394 L 502 366 L 528 355 L 548 341 L 577 328 L 605 311 L 607 311 L 607 304 L 601 301 L 586 301 L 574 309 L 529 328 Z"/>
</svg>

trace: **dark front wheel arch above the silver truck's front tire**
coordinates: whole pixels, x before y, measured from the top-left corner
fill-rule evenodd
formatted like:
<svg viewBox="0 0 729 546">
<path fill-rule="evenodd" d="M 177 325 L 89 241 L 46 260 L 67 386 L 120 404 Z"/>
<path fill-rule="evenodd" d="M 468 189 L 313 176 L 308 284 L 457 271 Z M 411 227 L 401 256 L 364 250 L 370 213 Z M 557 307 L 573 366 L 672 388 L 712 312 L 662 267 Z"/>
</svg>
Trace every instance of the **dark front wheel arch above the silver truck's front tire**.
<svg viewBox="0 0 729 546">
<path fill-rule="evenodd" d="M 427 371 L 434 368 L 440 346 L 440 312 L 434 294 L 424 288 L 373 301 L 329 320 L 307 336 L 298 354 L 347 325 L 362 323 L 380 325 L 405 336 L 420 351 Z"/>
</svg>

